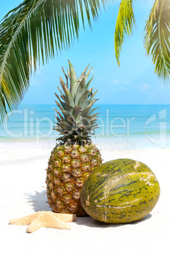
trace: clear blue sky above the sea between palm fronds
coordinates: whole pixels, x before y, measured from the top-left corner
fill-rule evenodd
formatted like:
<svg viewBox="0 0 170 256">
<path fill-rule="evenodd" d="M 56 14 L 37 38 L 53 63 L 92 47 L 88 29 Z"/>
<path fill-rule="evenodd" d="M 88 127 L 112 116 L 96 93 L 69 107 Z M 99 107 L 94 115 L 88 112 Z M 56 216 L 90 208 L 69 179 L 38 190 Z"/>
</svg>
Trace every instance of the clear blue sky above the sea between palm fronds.
<svg viewBox="0 0 170 256">
<path fill-rule="evenodd" d="M 1 3 L 0 18 L 20 3 L 20 0 Z M 91 63 L 91 76 L 95 76 L 91 86 L 98 89 L 98 104 L 170 103 L 169 84 L 157 78 L 154 64 L 146 57 L 143 47 L 143 29 L 154 1 L 134 1 L 136 29 L 122 46 L 119 68 L 114 53 L 114 28 L 120 3 L 117 0 L 106 12 L 102 10 L 98 22 L 92 22 L 93 31 L 86 23 L 85 31 L 81 27 L 79 40 L 70 50 L 41 65 L 35 76 L 33 73 L 22 104 L 54 104 L 54 92 L 58 93 L 59 76 L 64 79 L 62 66 L 68 67 L 67 59 L 72 62 L 77 76 Z"/>
</svg>

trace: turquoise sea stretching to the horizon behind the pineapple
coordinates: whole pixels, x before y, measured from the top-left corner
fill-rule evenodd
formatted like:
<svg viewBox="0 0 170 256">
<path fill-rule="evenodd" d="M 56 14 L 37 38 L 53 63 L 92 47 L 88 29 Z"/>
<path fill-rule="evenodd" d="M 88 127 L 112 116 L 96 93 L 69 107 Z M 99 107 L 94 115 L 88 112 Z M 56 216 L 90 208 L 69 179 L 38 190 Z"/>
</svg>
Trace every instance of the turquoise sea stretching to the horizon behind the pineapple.
<svg viewBox="0 0 170 256">
<path fill-rule="evenodd" d="M 98 129 L 91 139 L 108 150 L 170 148 L 170 105 L 95 105 Z M 55 104 L 20 105 L 0 127 L 1 143 L 53 141 Z"/>
</svg>

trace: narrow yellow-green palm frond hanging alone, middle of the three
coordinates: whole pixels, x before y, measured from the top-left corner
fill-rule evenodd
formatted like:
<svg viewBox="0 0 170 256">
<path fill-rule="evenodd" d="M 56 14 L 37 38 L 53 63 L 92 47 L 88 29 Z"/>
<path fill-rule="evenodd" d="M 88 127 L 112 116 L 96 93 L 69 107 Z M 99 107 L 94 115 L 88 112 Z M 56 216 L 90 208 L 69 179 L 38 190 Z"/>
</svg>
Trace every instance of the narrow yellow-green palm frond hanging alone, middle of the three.
<svg viewBox="0 0 170 256">
<path fill-rule="evenodd" d="M 115 57 L 120 66 L 119 58 L 125 36 L 131 36 L 135 25 L 133 0 L 122 0 L 115 24 Z"/>
</svg>

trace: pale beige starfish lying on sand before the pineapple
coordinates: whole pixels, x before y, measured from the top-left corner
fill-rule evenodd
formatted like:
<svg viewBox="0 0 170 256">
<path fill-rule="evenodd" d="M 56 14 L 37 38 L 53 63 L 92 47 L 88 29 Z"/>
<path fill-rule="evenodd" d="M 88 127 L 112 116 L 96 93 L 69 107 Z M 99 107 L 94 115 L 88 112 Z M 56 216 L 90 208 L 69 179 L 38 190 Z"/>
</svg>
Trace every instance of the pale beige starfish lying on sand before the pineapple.
<svg viewBox="0 0 170 256">
<path fill-rule="evenodd" d="M 29 225 L 27 232 L 34 232 L 41 227 L 53 227 L 54 229 L 70 229 L 67 222 L 72 222 L 76 218 L 75 214 L 53 213 L 52 211 L 38 211 L 22 218 L 10 220 L 10 224 Z"/>
</svg>

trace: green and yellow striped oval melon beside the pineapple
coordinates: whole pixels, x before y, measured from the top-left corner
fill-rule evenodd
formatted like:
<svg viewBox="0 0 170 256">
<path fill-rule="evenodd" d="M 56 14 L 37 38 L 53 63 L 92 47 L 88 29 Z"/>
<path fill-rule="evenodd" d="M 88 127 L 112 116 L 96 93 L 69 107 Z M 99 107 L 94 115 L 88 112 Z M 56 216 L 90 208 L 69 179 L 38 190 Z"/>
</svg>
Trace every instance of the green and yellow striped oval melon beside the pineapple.
<svg viewBox="0 0 170 256">
<path fill-rule="evenodd" d="M 121 224 L 148 215 L 159 196 L 159 182 L 146 164 L 117 159 L 89 175 L 81 189 L 81 204 L 96 220 Z"/>
</svg>

